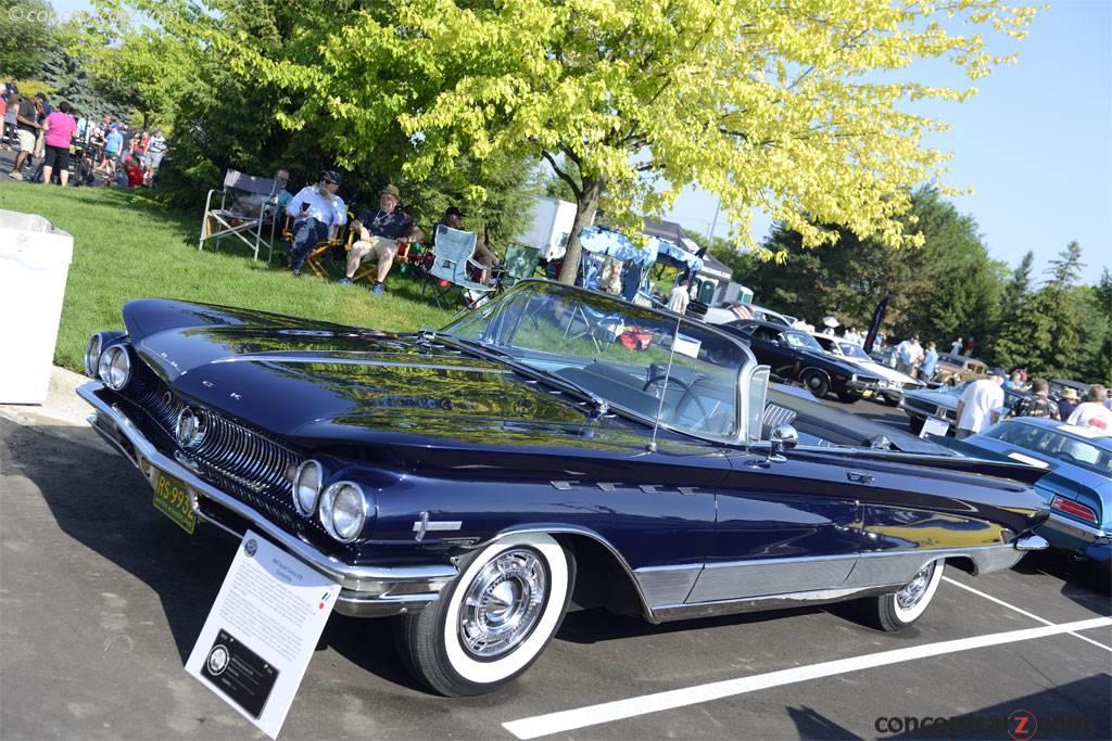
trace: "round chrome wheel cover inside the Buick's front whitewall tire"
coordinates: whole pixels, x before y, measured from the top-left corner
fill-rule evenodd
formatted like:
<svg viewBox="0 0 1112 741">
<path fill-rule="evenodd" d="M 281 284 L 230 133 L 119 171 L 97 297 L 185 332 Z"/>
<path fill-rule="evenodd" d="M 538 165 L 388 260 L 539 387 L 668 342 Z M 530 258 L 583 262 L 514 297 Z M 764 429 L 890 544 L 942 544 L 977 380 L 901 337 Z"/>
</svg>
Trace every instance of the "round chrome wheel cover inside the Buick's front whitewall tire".
<svg viewBox="0 0 1112 741">
<path fill-rule="evenodd" d="M 474 657 L 510 653 L 536 628 L 548 593 L 548 572 L 532 550 L 499 553 L 467 587 L 459 608 L 459 642 Z"/>
</svg>

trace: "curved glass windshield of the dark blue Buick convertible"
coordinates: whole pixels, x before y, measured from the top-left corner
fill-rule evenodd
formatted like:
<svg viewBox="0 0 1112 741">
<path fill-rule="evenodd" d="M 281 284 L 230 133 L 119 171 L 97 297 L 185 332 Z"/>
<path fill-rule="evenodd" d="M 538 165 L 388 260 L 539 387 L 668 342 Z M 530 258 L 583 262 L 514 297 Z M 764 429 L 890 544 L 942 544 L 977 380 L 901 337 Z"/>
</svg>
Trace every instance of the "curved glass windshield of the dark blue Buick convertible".
<svg viewBox="0 0 1112 741">
<path fill-rule="evenodd" d="M 663 424 L 697 434 L 738 432 L 739 375 L 752 357 L 739 342 L 675 314 L 528 282 L 443 333 L 573 383 L 648 422 L 659 413 Z"/>
</svg>

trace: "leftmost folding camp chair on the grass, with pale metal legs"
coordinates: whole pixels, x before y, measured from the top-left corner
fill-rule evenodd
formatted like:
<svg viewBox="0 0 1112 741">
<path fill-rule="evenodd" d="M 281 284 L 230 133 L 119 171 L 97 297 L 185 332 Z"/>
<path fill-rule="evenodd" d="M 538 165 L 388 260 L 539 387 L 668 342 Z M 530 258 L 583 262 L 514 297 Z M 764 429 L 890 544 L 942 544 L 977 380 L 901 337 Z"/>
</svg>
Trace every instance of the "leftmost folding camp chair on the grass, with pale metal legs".
<svg viewBox="0 0 1112 741">
<path fill-rule="evenodd" d="M 225 237 L 236 237 L 247 244 L 259 259 L 259 249 L 267 244 L 267 262 L 274 250 L 276 204 L 280 187 L 277 180 L 256 178 L 236 170 L 224 176 L 224 188 L 210 190 L 205 199 L 205 216 L 201 217 L 201 237 L 197 249 L 203 250 L 205 242 L 215 239 L 219 247 Z M 220 196 L 220 204 L 214 208 L 212 197 Z M 242 200 L 258 202 L 258 213 L 247 212 Z M 270 206 L 271 208 L 267 208 Z M 264 231 L 269 227 L 269 239 Z"/>
</svg>

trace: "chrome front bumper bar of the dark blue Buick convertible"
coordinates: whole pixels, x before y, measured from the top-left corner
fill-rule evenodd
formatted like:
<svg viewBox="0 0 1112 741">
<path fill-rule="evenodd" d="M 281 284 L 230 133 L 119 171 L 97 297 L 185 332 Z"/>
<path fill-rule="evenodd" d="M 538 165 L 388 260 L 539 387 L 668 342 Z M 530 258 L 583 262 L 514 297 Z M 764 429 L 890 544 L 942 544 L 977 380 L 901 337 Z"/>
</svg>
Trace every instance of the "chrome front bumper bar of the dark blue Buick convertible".
<svg viewBox="0 0 1112 741">
<path fill-rule="evenodd" d="M 180 479 L 198 495 L 211 499 L 239 517 L 245 518 L 251 523 L 252 527 L 257 528 L 259 532 L 265 534 L 267 538 L 275 541 L 281 548 L 286 549 L 291 554 L 301 559 L 325 575 L 335 579 L 345 589 L 349 589 L 355 592 L 367 592 L 371 588 L 384 591 L 380 589 L 381 584 L 373 585 L 370 582 L 399 581 L 431 581 L 437 582 L 440 587 L 443 587 L 457 575 L 458 572 L 456 568 L 450 564 L 430 564 L 423 567 L 360 567 L 344 563 L 337 559 L 326 555 L 325 553 L 321 553 L 312 545 L 299 540 L 280 528 L 277 528 L 269 520 L 244 502 L 202 481 L 192 471 L 181 465 L 172 458 L 168 458 L 159 452 L 158 449 L 155 448 L 155 445 L 131 423 L 131 420 L 129 420 L 123 412 L 96 395 L 95 392 L 102 388 L 103 385 L 101 383 L 92 381 L 78 387 L 77 393 L 79 397 L 89 402 L 89 404 L 91 404 L 101 415 L 116 425 L 120 434 L 127 438 L 128 442 L 130 442 L 135 448 L 138 455 L 149 461 L 155 468 Z M 100 420 L 97 419 L 93 424 L 95 429 L 99 427 L 99 422 Z M 98 432 L 106 435 L 106 431 L 103 430 L 98 429 Z M 108 435 L 111 435 L 111 432 L 108 432 Z M 109 441 L 111 442 L 110 438 Z M 117 444 L 117 447 L 119 447 L 119 444 Z M 129 460 L 131 460 L 132 464 L 137 464 L 135 459 L 129 457 Z"/>
</svg>

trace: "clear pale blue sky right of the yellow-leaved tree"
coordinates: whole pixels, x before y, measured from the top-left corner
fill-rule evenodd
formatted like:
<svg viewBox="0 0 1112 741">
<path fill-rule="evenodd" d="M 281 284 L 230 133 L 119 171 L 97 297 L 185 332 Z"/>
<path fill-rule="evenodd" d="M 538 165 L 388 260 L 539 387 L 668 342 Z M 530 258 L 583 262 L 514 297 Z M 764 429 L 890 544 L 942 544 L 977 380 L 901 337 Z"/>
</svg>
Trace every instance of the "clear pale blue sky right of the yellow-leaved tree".
<svg viewBox="0 0 1112 741">
<path fill-rule="evenodd" d="M 953 129 L 930 143 L 953 152 L 946 183 L 971 187 L 954 204 L 976 219 L 994 259 L 1015 266 L 1033 250 L 1034 274 L 1071 240 L 1083 250 L 1082 281 L 1112 268 L 1112 1 L 1058 0 L 1039 13 L 1015 49 L 1020 60 L 977 80 L 965 103 L 932 103 L 920 112 Z M 917 79 L 963 86 L 932 64 Z M 717 201 L 688 191 L 667 216 L 704 234 Z M 755 219 L 753 237 L 767 233 Z M 719 217 L 715 233 L 726 236 Z"/>
</svg>

